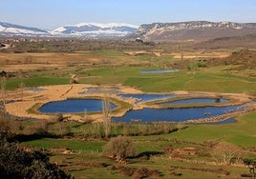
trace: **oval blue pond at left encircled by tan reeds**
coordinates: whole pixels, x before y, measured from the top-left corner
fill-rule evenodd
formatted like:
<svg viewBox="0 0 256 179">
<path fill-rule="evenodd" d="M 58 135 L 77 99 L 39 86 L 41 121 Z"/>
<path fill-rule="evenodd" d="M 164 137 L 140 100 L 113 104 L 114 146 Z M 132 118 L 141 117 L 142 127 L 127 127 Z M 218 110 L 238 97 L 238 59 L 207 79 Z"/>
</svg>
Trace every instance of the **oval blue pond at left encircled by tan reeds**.
<svg viewBox="0 0 256 179">
<path fill-rule="evenodd" d="M 111 109 L 116 106 L 111 104 Z M 73 113 L 84 111 L 99 111 L 102 110 L 102 100 L 100 99 L 67 99 L 64 101 L 54 101 L 47 103 L 39 109 L 45 113 Z"/>
</svg>

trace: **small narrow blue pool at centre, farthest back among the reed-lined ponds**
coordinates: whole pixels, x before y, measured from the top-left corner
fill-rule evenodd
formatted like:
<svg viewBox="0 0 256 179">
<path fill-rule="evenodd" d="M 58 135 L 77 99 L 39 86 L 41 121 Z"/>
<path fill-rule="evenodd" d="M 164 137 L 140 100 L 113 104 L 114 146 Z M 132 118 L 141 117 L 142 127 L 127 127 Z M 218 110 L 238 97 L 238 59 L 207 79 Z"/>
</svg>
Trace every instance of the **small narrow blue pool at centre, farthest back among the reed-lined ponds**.
<svg viewBox="0 0 256 179">
<path fill-rule="evenodd" d="M 124 98 L 135 98 L 139 101 L 151 101 L 177 97 L 175 94 L 119 94 L 119 96 Z"/>
</svg>

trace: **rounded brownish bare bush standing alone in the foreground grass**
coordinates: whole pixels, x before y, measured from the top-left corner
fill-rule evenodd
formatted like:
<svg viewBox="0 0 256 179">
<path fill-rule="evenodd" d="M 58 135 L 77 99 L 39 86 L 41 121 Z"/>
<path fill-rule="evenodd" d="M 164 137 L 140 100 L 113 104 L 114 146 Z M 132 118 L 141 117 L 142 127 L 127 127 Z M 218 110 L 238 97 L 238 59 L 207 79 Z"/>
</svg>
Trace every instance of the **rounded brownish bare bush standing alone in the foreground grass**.
<svg viewBox="0 0 256 179">
<path fill-rule="evenodd" d="M 107 155 L 113 155 L 117 160 L 136 156 L 136 149 L 132 140 L 123 136 L 111 138 L 106 146 L 104 146 L 103 152 Z"/>
</svg>

